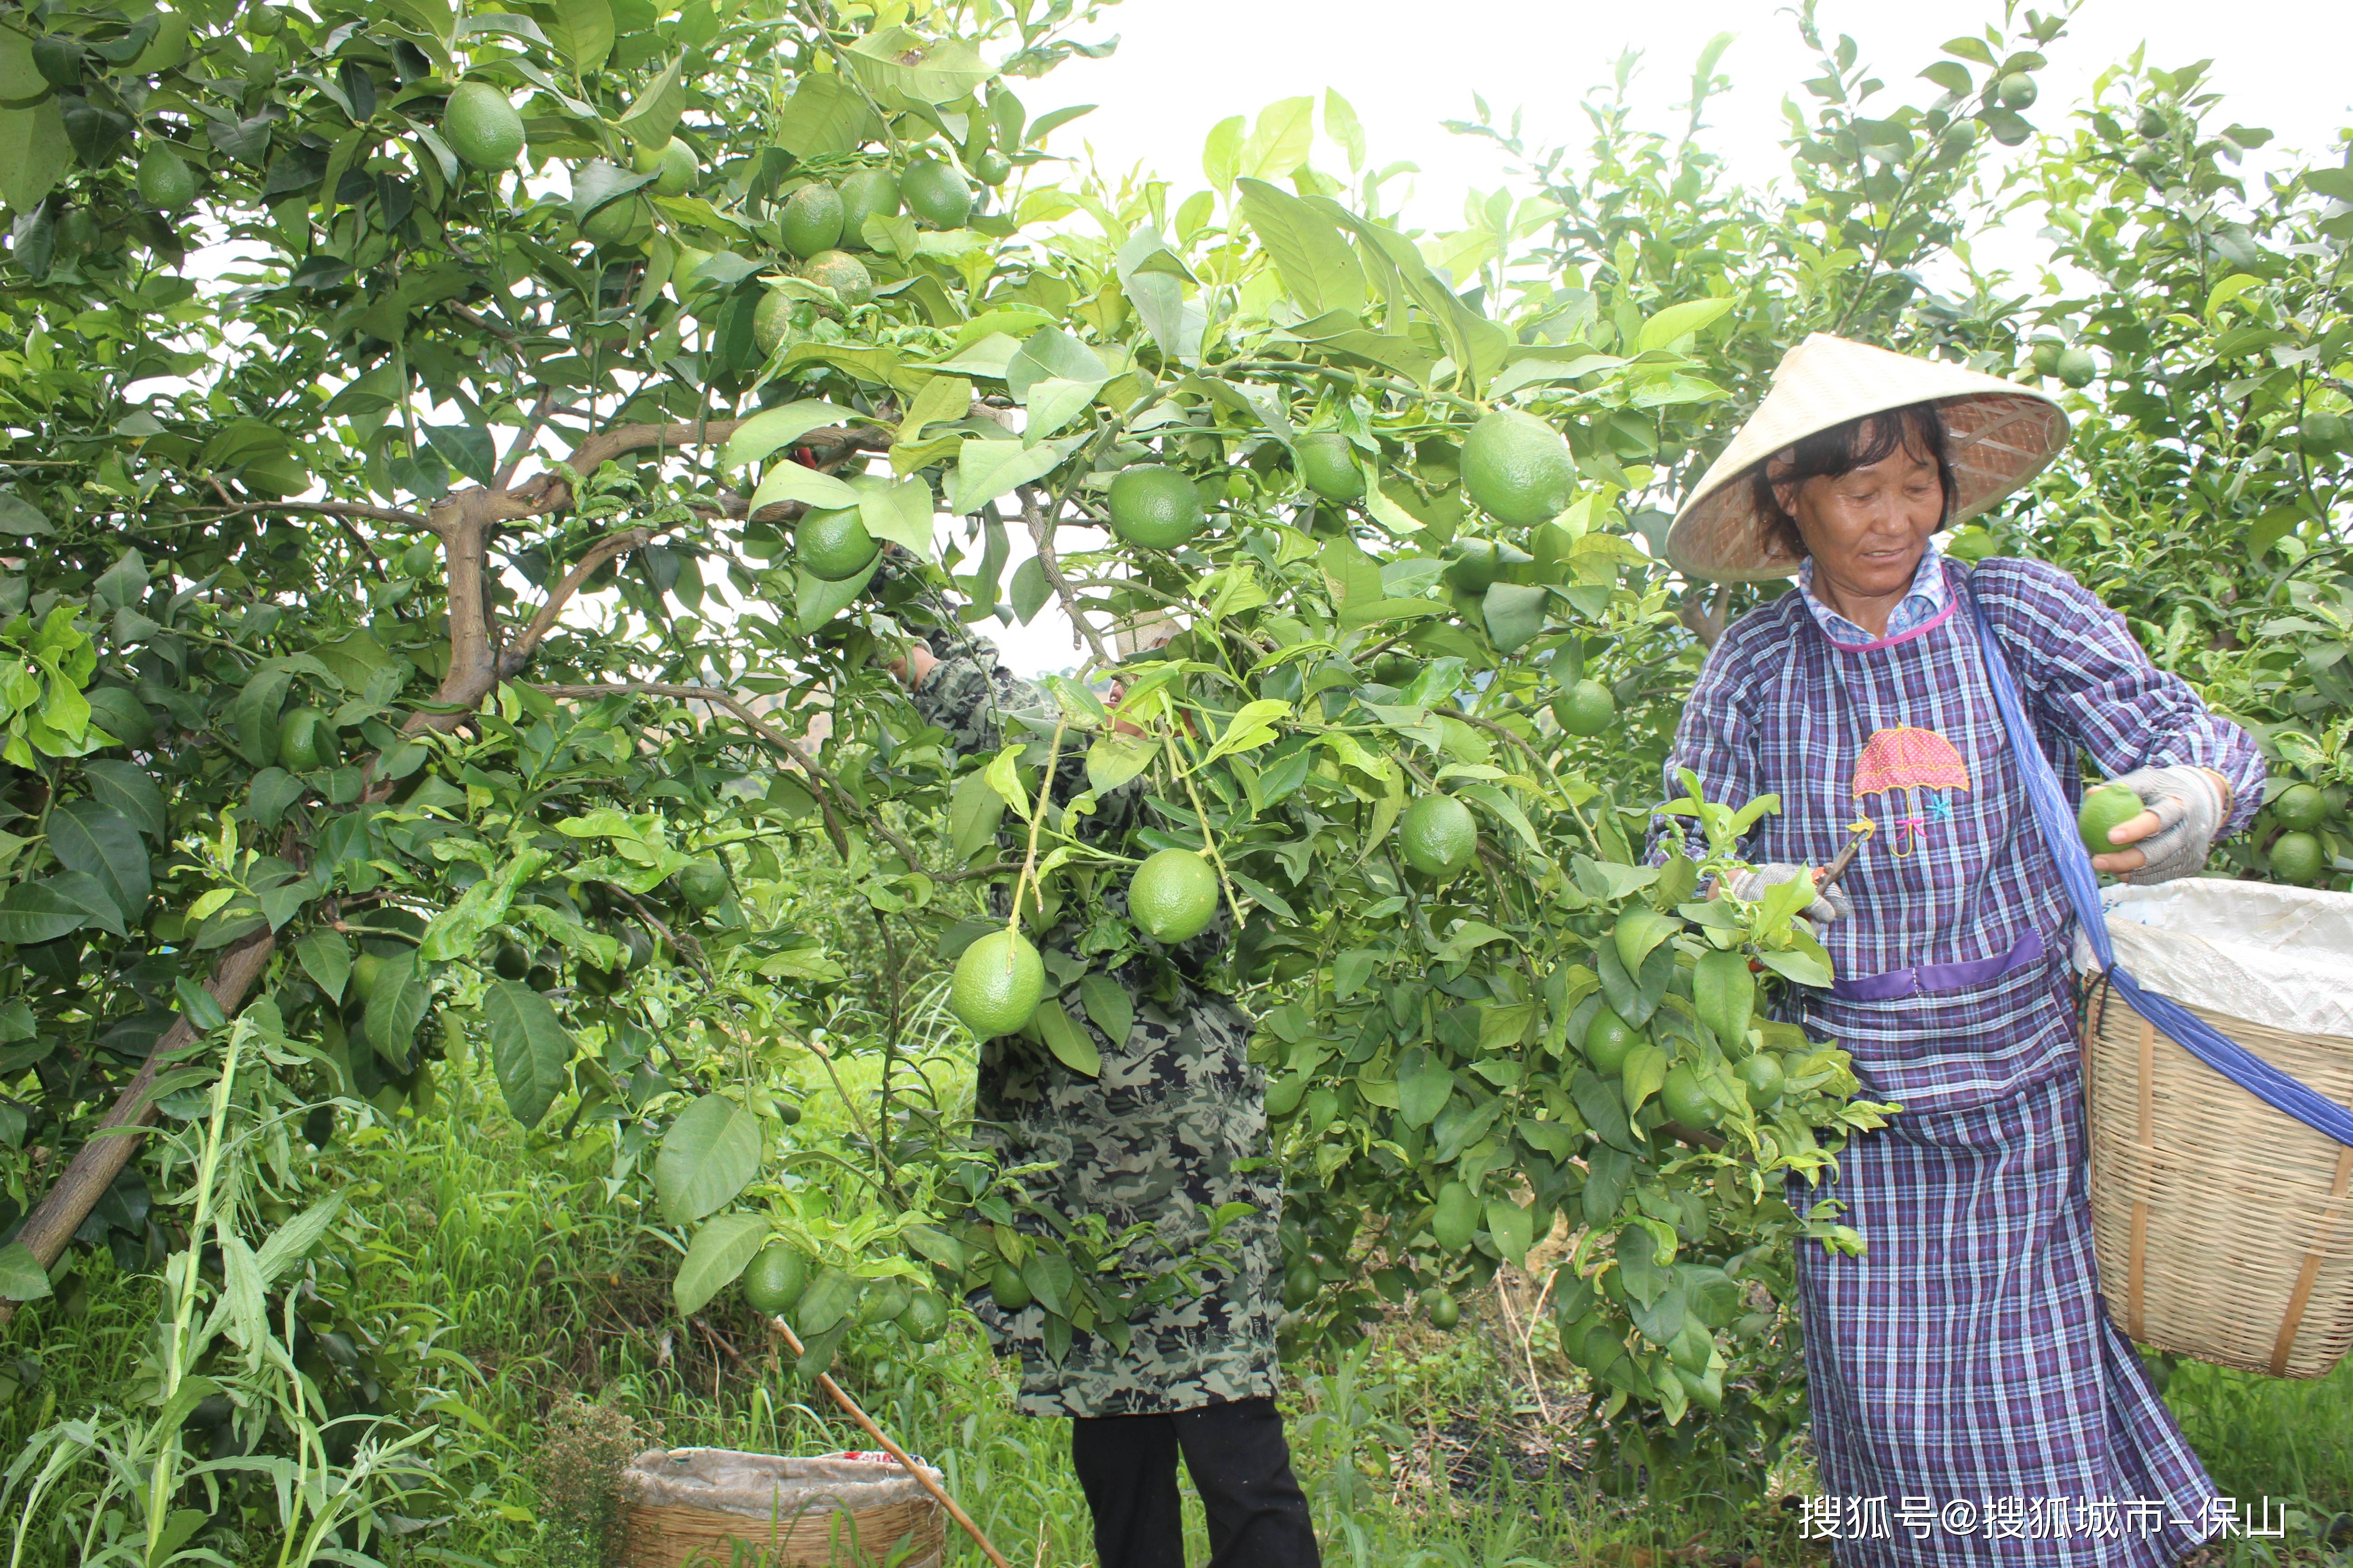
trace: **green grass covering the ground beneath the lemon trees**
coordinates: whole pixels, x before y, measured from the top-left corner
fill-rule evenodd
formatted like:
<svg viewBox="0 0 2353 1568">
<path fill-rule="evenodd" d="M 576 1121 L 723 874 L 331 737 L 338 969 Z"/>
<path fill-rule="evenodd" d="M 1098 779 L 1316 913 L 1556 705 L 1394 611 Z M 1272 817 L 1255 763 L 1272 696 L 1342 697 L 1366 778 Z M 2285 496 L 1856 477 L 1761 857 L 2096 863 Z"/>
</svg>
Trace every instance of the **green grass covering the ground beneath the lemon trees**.
<svg viewBox="0 0 2353 1568">
<path fill-rule="evenodd" d="M 852 1093 L 873 1084 L 871 1065 L 849 1060 L 840 1072 Z M 320 1175 L 372 1227 L 327 1288 L 365 1302 L 381 1361 L 440 1389 L 421 1401 L 435 1429 L 426 1458 L 438 1495 L 416 1502 L 405 1535 L 372 1547 L 384 1561 L 598 1563 L 607 1497 L 595 1476 L 656 1441 L 786 1453 L 864 1446 L 779 1366 L 748 1312 L 715 1302 L 701 1324 L 678 1321 L 668 1305 L 675 1253 L 607 1197 L 600 1140 L 527 1138 L 464 1065 L 445 1074 L 431 1114 L 362 1128 L 320 1159 Z M 87 1269 L 82 1316 L 26 1312 L 0 1340 L 0 1455 L 52 1413 L 120 1396 L 139 1366 L 155 1281 L 115 1276 L 104 1255 Z M 960 1324 L 920 1352 L 880 1335 L 838 1375 L 887 1432 L 946 1472 L 1012 1561 L 1094 1561 L 1068 1427 L 1009 1413 L 1009 1371 L 976 1328 Z M 1544 1403 L 1577 1408 L 1574 1394 L 1562 1373 Z M 2348 1561 L 2320 1542 L 2339 1516 L 2353 1516 L 2353 1361 L 2322 1382 L 2184 1363 L 2167 1399 L 2226 1493 L 2273 1497 L 2289 1514 L 2285 1549 L 2240 1542 L 2212 1561 Z M 1654 1476 L 1649 1495 L 1607 1495 L 1574 1469 L 1579 1434 L 1544 1420 L 1520 1352 L 1494 1324 L 1374 1335 L 1346 1361 L 1294 1368 L 1285 1406 L 1337 1566 L 1824 1561 L 1779 1500 L 1729 1509 L 1704 1488 L 1671 1497 L 1678 1476 Z M 1807 1486 L 1802 1462 L 1784 1469 L 1784 1490 Z M 0 1530 L 14 1523 L 0 1519 Z M 45 1528 L 31 1533 L 24 1561 L 71 1561 L 64 1547 L 42 1556 Z M 1205 1554 L 1195 1521 L 1191 1559 Z M 278 1542 L 249 1542 L 242 1561 L 278 1561 Z M 972 1568 L 981 1556 L 951 1535 L 948 1563 Z"/>
</svg>

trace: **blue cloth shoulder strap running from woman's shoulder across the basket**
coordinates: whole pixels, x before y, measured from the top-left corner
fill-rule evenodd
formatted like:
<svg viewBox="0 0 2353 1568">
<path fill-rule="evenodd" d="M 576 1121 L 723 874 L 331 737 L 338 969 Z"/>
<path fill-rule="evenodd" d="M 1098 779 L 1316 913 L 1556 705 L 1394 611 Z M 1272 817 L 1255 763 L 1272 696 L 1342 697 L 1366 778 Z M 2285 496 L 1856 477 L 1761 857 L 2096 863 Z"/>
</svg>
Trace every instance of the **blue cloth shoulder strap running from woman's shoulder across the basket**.
<svg viewBox="0 0 2353 1568">
<path fill-rule="evenodd" d="M 2026 776 L 2026 795 L 2035 806 L 2035 825 L 2042 830 L 2042 844 L 2052 851 L 2052 860 L 2059 863 L 2059 879 L 2066 884 L 2068 900 L 2075 905 L 2075 919 L 2082 922 L 2082 933 L 2089 938 L 2092 952 L 2099 954 L 2108 983 L 2134 1013 L 2158 1025 L 2165 1034 L 2172 1034 L 2200 1063 L 2264 1105 L 2282 1110 L 2315 1133 L 2353 1147 L 2353 1110 L 2287 1077 L 2198 1013 L 2169 997 L 2144 990 L 2139 980 L 2118 969 L 2115 947 L 2108 943 L 2108 922 L 2099 912 L 2099 875 L 2092 870 L 2092 851 L 2082 846 L 2082 835 L 2075 830 L 2075 813 L 2059 790 L 2059 773 L 2052 771 L 2049 757 L 2042 755 L 2035 729 L 2026 719 L 2026 703 L 2019 701 L 2019 686 L 2009 677 L 2009 661 L 2002 658 L 2002 646 L 1993 637 L 1986 607 L 1977 599 L 1977 583 L 1969 583 L 1967 592 L 1969 611 L 1977 616 L 1977 642 L 1986 651 L 1993 701 L 2002 710 L 2002 729 L 2009 731 L 2009 750 L 2019 757 L 2019 773 Z"/>
</svg>

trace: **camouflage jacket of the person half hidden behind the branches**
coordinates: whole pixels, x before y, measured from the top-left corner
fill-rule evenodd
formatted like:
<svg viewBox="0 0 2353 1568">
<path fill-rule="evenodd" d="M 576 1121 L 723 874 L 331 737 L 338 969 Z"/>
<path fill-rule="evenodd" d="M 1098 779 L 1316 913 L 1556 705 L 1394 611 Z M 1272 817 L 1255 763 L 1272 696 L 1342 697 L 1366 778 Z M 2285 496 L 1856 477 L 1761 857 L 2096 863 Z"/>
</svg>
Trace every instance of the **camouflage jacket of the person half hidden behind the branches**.
<svg viewBox="0 0 2353 1568">
<path fill-rule="evenodd" d="M 998 668 L 995 649 L 972 637 L 934 635 L 941 663 L 915 689 L 918 715 L 948 731 L 965 752 L 993 752 L 1002 719 L 1019 712 L 1054 722 L 1054 701 Z M 1014 731 L 1019 738 L 1019 729 Z M 1073 745 L 1054 776 L 1054 797 L 1087 788 L 1085 748 Z M 1144 818 L 1141 780 L 1096 802 L 1080 818 L 1087 839 L 1120 839 Z M 1016 827 L 1007 818 L 1007 827 Z M 1005 835 L 1012 842 L 1012 832 Z M 1127 917 L 1125 886 L 1106 884 L 1099 905 Z M 1009 891 L 991 893 L 1009 912 Z M 1106 1039 L 1080 1001 L 1075 976 L 1087 969 L 1078 940 L 1094 910 L 1071 910 L 1040 943 L 1047 985 L 1061 973 L 1071 1020 L 1104 1056 L 1101 1077 L 1071 1072 L 1019 1034 L 981 1044 L 976 1117 L 981 1138 L 1007 1164 L 1049 1164 L 1049 1187 L 1033 1194 L 1066 1215 L 1099 1213 L 1113 1232 L 1151 1222 L 1165 1246 L 1186 1251 L 1207 1237 L 1207 1213 L 1247 1204 L 1224 1241 L 1238 1269 L 1207 1269 L 1207 1293 L 1160 1307 L 1132 1324 L 1129 1347 L 1075 1333 L 1059 1361 L 1047 1352 L 1038 1305 L 1000 1312 L 981 1291 L 972 1307 L 1000 1352 L 1021 1359 L 1024 1415 L 1148 1415 L 1191 1410 L 1275 1392 L 1275 1321 L 1282 1316 L 1282 1262 L 1275 1225 L 1282 1178 L 1266 1159 L 1266 1077 L 1249 1063 L 1249 1018 L 1228 997 L 1198 985 L 1231 938 L 1231 919 L 1191 943 L 1165 947 L 1167 964 L 1134 959 L 1113 980 L 1134 1006 L 1127 1039 Z M 1139 938 L 1148 940 L 1148 938 Z M 1061 961 L 1056 961 L 1061 959 Z"/>
</svg>

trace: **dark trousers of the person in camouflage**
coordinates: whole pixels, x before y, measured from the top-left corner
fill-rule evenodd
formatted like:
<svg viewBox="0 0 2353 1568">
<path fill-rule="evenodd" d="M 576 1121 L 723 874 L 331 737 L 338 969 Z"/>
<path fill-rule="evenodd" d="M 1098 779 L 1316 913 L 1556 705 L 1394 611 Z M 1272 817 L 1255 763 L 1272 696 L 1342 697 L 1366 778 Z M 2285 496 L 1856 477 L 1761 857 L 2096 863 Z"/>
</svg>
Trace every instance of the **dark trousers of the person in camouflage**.
<svg viewBox="0 0 2353 1568">
<path fill-rule="evenodd" d="M 1094 1512 L 1101 1568 L 1184 1568 L 1176 1455 L 1209 1514 L 1207 1568 L 1318 1568 L 1308 1500 L 1273 1399 L 1174 1415 L 1080 1415 L 1071 1467 Z"/>
</svg>

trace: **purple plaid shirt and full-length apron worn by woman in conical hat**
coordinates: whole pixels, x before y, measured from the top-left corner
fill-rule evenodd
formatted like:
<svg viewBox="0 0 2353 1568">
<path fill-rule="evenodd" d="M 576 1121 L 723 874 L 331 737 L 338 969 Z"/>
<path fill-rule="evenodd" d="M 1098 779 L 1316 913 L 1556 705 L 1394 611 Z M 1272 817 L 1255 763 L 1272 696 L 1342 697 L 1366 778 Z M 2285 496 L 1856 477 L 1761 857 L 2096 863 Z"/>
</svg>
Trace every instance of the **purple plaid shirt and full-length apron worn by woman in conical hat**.
<svg viewBox="0 0 2353 1568">
<path fill-rule="evenodd" d="M 1941 569 L 1960 602 L 1965 569 Z M 1974 588 L 2068 790 L 2078 752 L 2111 776 L 2209 766 L 2245 825 L 2261 755 L 2120 616 L 2040 562 L 1984 562 Z M 1708 656 L 1671 795 L 1678 766 L 1708 799 L 1781 795 L 1746 846 L 1760 863 L 1819 865 L 1873 820 L 1842 884 L 1854 917 L 1821 931 L 1842 985 L 1786 1004 L 1904 1105 L 1833 1182 L 1788 1190 L 1842 1201 L 1868 1246 L 1798 1258 L 1826 1493 L 1807 1535 L 1854 1568 L 2174 1561 L 2219 1523 L 2214 1486 L 2099 1298 L 2071 917 L 1974 625 L 1845 644 L 1805 595 L 1765 604 Z"/>
</svg>

